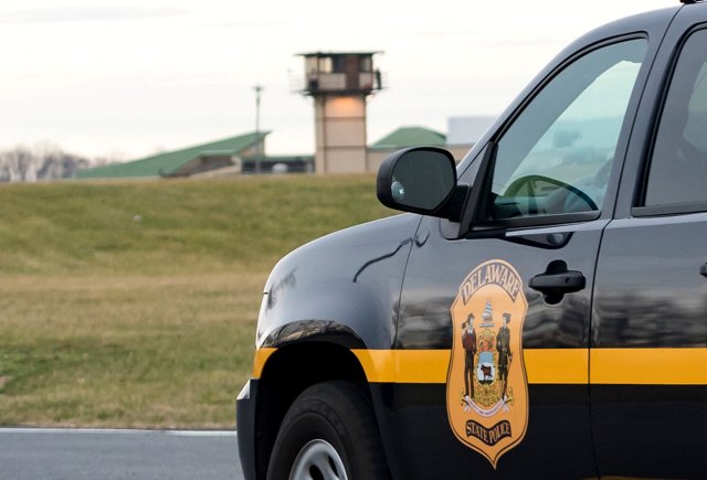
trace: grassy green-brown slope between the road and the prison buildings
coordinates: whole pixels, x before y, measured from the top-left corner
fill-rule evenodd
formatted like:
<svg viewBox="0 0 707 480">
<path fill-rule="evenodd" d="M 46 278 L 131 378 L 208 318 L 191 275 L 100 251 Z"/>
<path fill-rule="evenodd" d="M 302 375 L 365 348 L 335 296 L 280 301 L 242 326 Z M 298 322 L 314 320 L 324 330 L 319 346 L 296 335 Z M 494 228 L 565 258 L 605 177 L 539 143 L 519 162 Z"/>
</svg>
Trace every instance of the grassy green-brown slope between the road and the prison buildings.
<svg viewBox="0 0 707 480">
<path fill-rule="evenodd" d="M 231 427 L 262 287 L 370 175 L 0 188 L 0 425 Z"/>
</svg>

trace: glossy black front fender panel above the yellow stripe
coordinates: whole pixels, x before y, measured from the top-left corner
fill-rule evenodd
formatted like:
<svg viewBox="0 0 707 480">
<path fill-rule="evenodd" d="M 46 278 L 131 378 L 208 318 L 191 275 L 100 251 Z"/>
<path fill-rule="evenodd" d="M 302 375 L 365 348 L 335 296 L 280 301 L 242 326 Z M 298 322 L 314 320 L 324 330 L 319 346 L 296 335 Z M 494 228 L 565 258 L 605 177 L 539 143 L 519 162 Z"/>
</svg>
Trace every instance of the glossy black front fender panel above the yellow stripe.
<svg viewBox="0 0 707 480">
<path fill-rule="evenodd" d="M 338 232 L 298 248 L 265 286 L 256 346 L 323 339 L 348 348 L 390 349 L 418 215 Z"/>
</svg>

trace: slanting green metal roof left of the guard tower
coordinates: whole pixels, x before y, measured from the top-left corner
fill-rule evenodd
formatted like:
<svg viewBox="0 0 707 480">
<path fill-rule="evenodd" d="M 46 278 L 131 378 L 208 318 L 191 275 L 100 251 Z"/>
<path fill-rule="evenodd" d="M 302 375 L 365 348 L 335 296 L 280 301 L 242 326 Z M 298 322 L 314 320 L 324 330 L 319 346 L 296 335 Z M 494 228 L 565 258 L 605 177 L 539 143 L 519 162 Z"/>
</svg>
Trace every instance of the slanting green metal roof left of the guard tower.
<svg viewBox="0 0 707 480">
<path fill-rule="evenodd" d="M 77 172 L 76 178 L 120 179 L 169 175 L 186 166 L 189 161 L 203 154 L 213 154 L 214 152 L 221 154 L 239 154 L 257 145 L 267 134 L 270 134 L 270 131 L 246 134 L 181 150 L 168 151 L 130 162 L 96 167 L 95 169 Z"/>
</svg>

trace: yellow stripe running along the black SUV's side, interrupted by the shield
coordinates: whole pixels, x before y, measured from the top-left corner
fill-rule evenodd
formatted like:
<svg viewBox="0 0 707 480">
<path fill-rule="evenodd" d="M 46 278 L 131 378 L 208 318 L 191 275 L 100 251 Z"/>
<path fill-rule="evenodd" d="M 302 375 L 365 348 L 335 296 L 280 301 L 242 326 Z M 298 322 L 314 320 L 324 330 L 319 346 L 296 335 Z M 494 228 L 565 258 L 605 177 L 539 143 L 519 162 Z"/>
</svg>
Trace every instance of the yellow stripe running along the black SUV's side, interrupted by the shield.
<svg viewBox="0 0 707 480">
<path fill-rule="evenodd" d="M 275 351 L 255 352 L 254 378 Z M 446 383 L 449 350 L 351 352 L 371 383 Z M 707 385 L 707 349 L 526 349 L 523 354 L 530 384 L 581 385 L 591 377 L 594 384 Z"/>
</svg>

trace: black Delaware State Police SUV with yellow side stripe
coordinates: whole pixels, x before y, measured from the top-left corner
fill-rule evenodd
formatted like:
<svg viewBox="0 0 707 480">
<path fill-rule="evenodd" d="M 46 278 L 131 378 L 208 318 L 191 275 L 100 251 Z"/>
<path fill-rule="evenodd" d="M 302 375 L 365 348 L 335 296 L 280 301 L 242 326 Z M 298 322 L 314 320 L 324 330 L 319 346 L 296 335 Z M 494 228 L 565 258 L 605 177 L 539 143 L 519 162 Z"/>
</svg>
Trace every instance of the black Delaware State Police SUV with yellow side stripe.
<svg viewBox="0 0 707 480">
<path fill-rule="evenodd" d="M 707 479 L 707 4 L 564 50 L 274 268 L 246 479 Z"/>
</svg>

